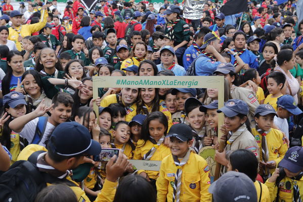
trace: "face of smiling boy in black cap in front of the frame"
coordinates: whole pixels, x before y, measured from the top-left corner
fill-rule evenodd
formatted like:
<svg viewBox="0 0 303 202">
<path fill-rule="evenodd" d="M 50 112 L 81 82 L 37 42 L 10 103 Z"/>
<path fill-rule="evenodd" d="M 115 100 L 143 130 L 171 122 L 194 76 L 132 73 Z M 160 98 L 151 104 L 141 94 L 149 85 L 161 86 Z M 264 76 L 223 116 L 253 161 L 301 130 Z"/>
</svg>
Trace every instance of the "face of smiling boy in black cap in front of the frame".
<svg viewBox="0 0 303 202">
<path fill-rule="evenodd" d="M 176 155 L 179 158 L 183 158 L 186 155 L 189 147 L 191 147 L 192 144 L 192 140 L 183 142 L 176 137 L 169 138 L 169 149 L 171 151 L 171 154 Z"/>
</svg>

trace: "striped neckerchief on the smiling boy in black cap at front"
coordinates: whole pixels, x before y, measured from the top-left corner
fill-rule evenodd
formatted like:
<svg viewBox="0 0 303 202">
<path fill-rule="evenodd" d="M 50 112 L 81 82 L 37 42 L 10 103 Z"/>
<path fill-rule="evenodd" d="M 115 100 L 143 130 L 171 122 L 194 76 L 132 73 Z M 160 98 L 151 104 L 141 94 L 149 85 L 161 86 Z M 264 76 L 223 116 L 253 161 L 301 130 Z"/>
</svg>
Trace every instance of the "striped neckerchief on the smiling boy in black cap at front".
<svg viewBox="0 0 303 202">
<path fill-rule="evenodd" d="M 172 202 L 180 201 L 182 166 L 184 166 L 187 163 L 189 159 L 189 155 L 190 155 L 190 149 L 187 151 L 181 162 L 177 156 L 172 155 L 172 158 L 175 161 L 175 165 L 178 168 L 175 175 L 175 184 L 174 184 L 174 192 L 172 193 Z"/>
</svg>

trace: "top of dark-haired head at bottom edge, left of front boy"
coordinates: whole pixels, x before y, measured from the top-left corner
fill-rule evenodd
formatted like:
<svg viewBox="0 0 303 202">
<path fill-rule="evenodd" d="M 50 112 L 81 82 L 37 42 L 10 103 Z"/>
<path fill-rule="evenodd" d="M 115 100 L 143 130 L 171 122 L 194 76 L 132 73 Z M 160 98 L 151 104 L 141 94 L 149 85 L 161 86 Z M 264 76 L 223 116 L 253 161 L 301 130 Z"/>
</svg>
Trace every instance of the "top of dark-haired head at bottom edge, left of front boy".
<svg viewBox="0 0 303 202">
<path fill-rule="evenodd" d="M 129 174 L 121 179 L 113 202 L 156 202 L 154 187 L 142 176 Z"/>
</svg>

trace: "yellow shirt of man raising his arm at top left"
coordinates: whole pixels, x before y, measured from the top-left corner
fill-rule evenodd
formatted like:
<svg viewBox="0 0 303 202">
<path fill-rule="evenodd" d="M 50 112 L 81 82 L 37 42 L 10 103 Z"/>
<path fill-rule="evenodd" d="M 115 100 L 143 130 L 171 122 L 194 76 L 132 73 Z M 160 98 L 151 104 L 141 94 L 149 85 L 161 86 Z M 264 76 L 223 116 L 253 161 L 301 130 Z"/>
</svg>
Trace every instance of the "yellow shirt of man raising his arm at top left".
<svg viewBox="0 0 303 202">
<path fill-rule="evenodd" d="M 21 43 L 18 40 L 19 33 L 22 37 L 25 37 L 30 36 L 34 32 L 40 31 L 40 29 L 46 25 L 48 16 L 49 14 L 47 10 L 45 10 L 44 17 L 42 18 L 41 14 L 41 18 L 38 23 L 21 25 L 19 27 L 15 27 L 15 29 L 10 27 L 8 39 L 15 42 L 18 51 L 22 51 Z"/>
</svg>

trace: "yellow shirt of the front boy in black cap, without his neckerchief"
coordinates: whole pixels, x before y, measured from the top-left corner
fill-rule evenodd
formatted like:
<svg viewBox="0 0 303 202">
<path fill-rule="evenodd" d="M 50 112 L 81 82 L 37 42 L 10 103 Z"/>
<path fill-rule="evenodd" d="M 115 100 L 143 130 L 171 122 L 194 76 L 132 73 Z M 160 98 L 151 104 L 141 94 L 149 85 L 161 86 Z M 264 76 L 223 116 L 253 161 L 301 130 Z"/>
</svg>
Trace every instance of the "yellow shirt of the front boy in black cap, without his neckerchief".
<svg viewBox="0 0 303 202">
<path fill-rule="evenodd" d="M 161 163 L 156 182 L 157 201 L 172 201 L 177 167 L 172 155 L 166 156 Z M 211 201 L 209 168 L 201 156 L 191 152 L 187 163 L 182 166 L 180 201 Z"/>
</svg>

